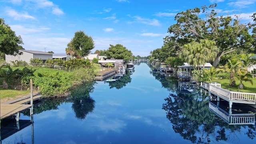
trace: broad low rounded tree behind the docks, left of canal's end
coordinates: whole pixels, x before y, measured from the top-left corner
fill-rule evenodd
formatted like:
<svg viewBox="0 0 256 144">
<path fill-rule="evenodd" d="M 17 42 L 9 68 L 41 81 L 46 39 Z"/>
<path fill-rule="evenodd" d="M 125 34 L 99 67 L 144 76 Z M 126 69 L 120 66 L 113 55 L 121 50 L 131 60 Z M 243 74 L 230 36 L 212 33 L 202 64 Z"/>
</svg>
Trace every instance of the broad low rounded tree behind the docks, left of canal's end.
<svg viewBox="0 0 256 144">
<path fill-rule="evenodd" d="M 110 47 L 106 50 L 106 56 L 108 58 L 129 60 L 132 58 L 132 52 L 122 44 L 116 44 L 115 46 L 110 44 Z"/>
</svg>

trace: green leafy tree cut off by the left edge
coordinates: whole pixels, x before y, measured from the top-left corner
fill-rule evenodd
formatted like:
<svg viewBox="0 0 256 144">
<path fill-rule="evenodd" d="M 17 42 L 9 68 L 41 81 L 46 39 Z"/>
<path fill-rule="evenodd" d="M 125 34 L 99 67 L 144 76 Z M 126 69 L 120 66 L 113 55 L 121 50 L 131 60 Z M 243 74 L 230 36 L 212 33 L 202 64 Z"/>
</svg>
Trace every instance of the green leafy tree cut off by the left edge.
<svg viewBox="0 0 256 144">
<path fill-rule="evenodd" d="M 23 44 L 21 36 L 16 36 L 11 27 L 4 23 L 4 19 L 0 18 L 0 52 L 8 55 L 22 54 L 19 52 L 19 44 Z"/>
</svg>

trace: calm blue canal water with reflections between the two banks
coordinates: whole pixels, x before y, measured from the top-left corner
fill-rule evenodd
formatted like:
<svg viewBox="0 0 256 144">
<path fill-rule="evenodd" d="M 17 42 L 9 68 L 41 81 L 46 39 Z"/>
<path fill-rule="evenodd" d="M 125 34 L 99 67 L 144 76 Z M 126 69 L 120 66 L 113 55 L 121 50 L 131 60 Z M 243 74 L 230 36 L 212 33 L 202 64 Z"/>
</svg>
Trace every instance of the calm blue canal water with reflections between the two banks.
<svg viewBox="0 0 256 144">
<path fill-rule="evenodd" d="M 221 102 L 222 107 L 228 106 Z M 20 116 L 20 130 L 2 144 L 248 144 L 255 125 L 229 125 L 209 108 L 199 88 L 180 91 L 178 81 L 141 63 L 116 81 L 86 84 L 67 98 L 49 98 Z M 254 109 L 233 106 L 234 112 Z M 226 110 L 228 111 L 228 110 Z M 10 124 L 9 124 L 10 125 Z M 16 126 L 13 122 L 12 126 Z M 7 124 L 6 124 L 7 126 Z M 16 128 L 17 129 L 17 128 Z"/>
</svg>

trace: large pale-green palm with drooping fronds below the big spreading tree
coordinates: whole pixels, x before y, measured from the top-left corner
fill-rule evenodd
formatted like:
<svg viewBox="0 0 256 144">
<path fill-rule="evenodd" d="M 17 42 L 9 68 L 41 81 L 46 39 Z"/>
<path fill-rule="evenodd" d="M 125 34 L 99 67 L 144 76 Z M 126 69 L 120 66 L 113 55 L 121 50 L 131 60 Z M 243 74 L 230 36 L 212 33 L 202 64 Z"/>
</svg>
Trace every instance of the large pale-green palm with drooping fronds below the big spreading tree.
<svg viewBox="0 0 256 144">
<path fill-rule="evenodd" d="M 183 50 L 180 52 L 180 57 L 199 70 L 200 65 L 214 60 L 217 55 L 218 48 L 216 42 L 212 40 L 200 40 L 184 44 Z"/>
</svg>

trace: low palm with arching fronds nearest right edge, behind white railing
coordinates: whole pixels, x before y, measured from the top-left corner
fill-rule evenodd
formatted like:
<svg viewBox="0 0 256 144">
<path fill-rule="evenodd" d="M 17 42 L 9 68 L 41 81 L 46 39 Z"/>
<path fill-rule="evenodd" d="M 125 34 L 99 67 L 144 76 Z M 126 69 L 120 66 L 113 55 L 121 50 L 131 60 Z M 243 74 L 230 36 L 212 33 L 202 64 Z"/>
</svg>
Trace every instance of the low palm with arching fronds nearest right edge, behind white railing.
<svg viewBox="0 0 256 144">
<path fill-rule="evenodd" d="M 235 77 L 233 78 L 233 80 L 238 80 L 240 82 L 238 88 L 243 89 L 244 85 L 242 84 L 242 82 L 250 82 L 250 84 L 253 84 L 252 82 L 252 75 L 250 74 L 250 72 L 248 72 L 247 68 L 240 68 L 239 70 L 237 70 Z"/>
</svg>

